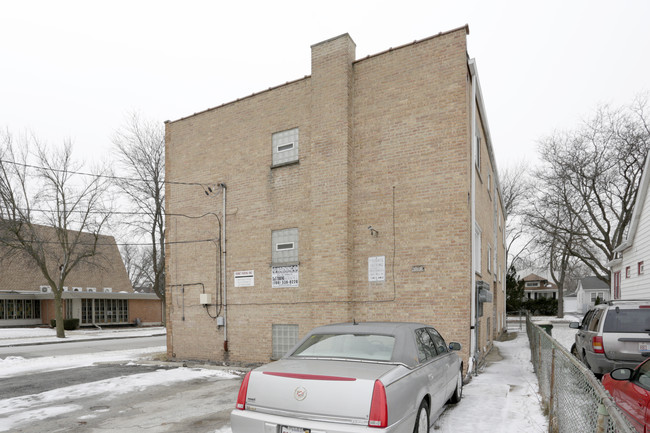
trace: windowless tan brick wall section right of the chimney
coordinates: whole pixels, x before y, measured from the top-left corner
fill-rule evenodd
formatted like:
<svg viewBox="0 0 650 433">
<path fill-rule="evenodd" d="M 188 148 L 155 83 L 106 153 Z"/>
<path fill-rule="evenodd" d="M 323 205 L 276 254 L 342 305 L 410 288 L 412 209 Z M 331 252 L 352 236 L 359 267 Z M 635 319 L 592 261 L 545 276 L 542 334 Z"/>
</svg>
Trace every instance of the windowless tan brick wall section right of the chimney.
<svg viewBox="0 0 650 433">
<path fill-rule="evenodd" d="M 351 223 L 354 318 L 429 323 L 468 350 L 466 52 L 458 31 L 355 63 Z"/>
</svg>

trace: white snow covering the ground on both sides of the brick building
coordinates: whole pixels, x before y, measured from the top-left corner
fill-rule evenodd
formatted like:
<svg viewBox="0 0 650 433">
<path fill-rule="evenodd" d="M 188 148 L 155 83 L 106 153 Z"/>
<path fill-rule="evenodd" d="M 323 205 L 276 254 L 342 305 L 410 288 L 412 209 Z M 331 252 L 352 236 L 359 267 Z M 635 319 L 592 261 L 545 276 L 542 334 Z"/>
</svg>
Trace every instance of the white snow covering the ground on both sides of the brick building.
<svg viewBox="0 0 650 433">
<path fill-rule="evenodd" d="M 9 340 L 27 342 L 33 341 L 31 339 L 56 339 L 50 334 L 40 334 L 47 331 L 51 330 L 3 329 L 0 330 L 0 344 Z M 162 329 L 159 328 L 155 332 L 160 333 L 161 331 Z M 72 331 L 67 334 L 67 338 L 106 338 L 106 335 L 101 335 L 98 332 L 101 331 Z M 112 337 L 117 336 L 116 332 L 112 331 Z M 130 332 L 145 331 L 133 330 Z M 435 422 L 432 431 L 492 433 L 544 432 L 548 430 L 548 422 L 540 405 L 537 379 L 530 362 L 530 348 L 525 329 L 523 331 L 514 330 L 514 332 L 517 332 L 515 339 L 495 342 L 495 347 L 502 359 L 497 357 L 485 367 L 481 374 L 474 377 L 465 386 L 463 400 L 457 405 L 449 406 Z M 159 347 L 69 357 L 33 359 L 6 357 L 0 359 L 0 377 L 56 370 L 63 365 L 77 367 L 106 361 L 138 363 L 142 359 L 151 357 L 152 353 L 164 350 L 164 347 Z M 143 392 L 153 386 L 174 385 L 197 379 L 218 380 L 229 377 L 236 376 L 231 375 L 231 372 L 228 371 L 208 368 L 177 368 L 74 385 L 16 398 L 1 399 L 0 397 L 0 431 L 10 431 L 20 427 L 23 423 L 33 423 L 35 419 L 47 420 L 65 414 L 74 414 L 74 411 L 79 412 L 80 406 L 75 402 L 88 398 L 98 399 L 101 396 L 104 396 L 101 398 L 107 398 L 106 394 L 124 396 L 128 393 Z M 223 396 L 229 402 L 228 405 L 234 403 L 236 399 L 236 390 L 231 392 L 233 394 L 231 397 Z M 65 396 L 65 399 L 61 396 Z M 179 405 L 187 404 L 187 402 L 180 401 L 183 399 L 182 396 L 179 396 L 178 399 Z M 81 417 L 77 419 L 81 420 Z M 213 429 L 209 430 L 211 433 L 231 433 L 227 421 L 224 421 L 221 426 L 219 424 L 213 424 L 213 426 Z"/>
</svg>

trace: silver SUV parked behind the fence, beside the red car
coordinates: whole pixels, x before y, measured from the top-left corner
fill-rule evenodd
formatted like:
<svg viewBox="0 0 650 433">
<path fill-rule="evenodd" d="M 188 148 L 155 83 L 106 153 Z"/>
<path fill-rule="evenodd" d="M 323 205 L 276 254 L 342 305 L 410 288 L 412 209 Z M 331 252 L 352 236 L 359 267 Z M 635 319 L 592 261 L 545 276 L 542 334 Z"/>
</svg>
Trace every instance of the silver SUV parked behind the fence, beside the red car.
<svg viewBox="0 0 650 433">
<path fill-rule="evenodd" d="M 594 374 L 634 368 L 650 357 L 650 300 L 618 300 L 596 305 L 577 329 L 573 353 Z"/>
</svg>

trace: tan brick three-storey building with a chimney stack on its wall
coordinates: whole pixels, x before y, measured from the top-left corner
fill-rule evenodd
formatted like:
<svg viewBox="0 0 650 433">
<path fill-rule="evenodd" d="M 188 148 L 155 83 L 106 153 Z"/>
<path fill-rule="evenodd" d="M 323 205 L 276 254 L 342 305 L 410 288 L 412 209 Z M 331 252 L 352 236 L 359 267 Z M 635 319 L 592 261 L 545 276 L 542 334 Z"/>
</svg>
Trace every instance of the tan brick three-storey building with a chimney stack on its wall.
<svg viewBox="0 0 650 433">
<path fill-rule="evenodd" d="M 310 76 L 166 122 L 171 357 L 268 362 L 390 320 L 476 365 L 505 327 L 505 235 L 468 32 L 359 60 L 344 34 Z"/>
</svg>

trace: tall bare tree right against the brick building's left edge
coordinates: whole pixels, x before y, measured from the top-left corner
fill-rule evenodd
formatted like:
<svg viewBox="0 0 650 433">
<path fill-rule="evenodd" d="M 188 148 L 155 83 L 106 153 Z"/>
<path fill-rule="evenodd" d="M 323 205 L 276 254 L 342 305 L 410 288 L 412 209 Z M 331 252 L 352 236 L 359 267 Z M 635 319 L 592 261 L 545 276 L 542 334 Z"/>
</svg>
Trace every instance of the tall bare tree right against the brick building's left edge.
<svg viewBox="0 0 650 433">
<path fill-rule="evenodd" d="M 148 239 L 151 285 L 165 304 L 165 135 L 162 123 L 132 114 L 113 137 L 122 174 L 118 181 L 135 215 L 125 223 Z"/>
</svg>

